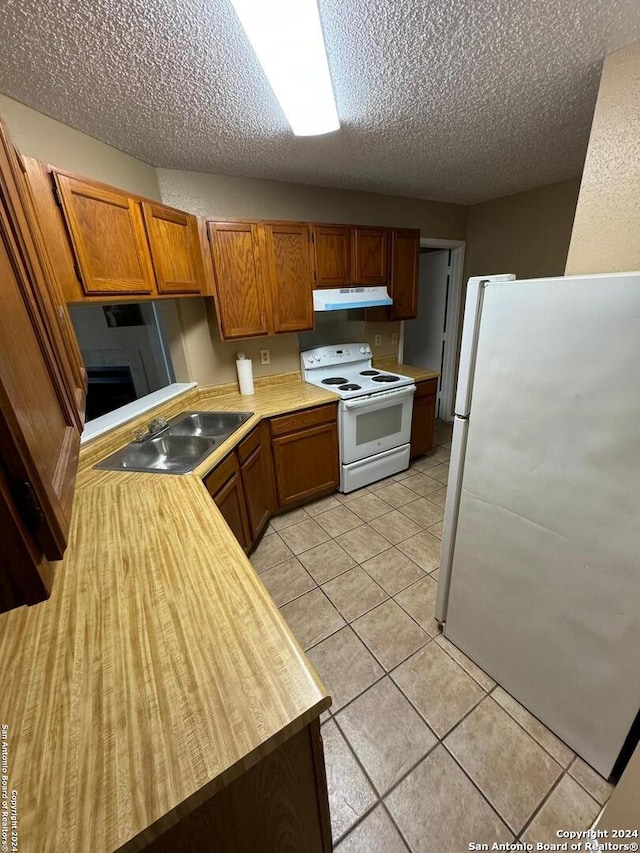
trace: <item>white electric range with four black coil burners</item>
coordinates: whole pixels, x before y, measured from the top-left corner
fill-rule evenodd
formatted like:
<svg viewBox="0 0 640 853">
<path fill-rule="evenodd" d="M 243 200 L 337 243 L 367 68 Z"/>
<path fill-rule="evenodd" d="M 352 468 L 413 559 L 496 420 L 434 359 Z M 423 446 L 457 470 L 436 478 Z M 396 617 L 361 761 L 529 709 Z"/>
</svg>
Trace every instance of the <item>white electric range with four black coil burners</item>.
<svg viewBox="0 0 640 853">
<path fill-rule="evenodd" d="M 305 382 L 335 392 L 340 442 L 340 491 L 409 467 L 416 386 L 409 376 L 371 367 L 368 344 L 314 347 L 300 353 Z"/>
</svg>

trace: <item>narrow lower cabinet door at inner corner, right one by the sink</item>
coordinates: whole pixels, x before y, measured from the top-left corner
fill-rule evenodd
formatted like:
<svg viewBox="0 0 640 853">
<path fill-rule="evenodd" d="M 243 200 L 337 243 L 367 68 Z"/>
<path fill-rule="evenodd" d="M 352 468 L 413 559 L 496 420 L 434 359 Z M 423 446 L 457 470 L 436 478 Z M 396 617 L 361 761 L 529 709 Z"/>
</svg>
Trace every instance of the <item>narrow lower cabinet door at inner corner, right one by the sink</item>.
<svg viewBox="0 0 640 853">
<path fill-rule="evenodd" d="M 249 448 L 249 443 L 253 449 L 241 463 L 240 471 L 249 516 L 251 539 L 255 541 L 276 508 L 273 462 L 266 421 L 256 427 L 249 438 L 245 439 L 240 445 L 241 459 L 243 446 L 246 445 Z"/>
</svg>

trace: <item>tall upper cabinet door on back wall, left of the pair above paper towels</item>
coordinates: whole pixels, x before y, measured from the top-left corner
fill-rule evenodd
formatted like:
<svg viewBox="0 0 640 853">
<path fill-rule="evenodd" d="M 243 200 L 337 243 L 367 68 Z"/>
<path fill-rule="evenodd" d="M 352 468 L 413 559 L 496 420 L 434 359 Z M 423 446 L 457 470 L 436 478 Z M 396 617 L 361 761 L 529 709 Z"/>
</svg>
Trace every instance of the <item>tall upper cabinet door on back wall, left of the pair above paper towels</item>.
<svg viewBox="0 0 640 853">
<path fill-rule="evenodd" d="M 255 222 L 208 222 L 216 308 L 225 340 L 269 334 Z"/>
</svg>

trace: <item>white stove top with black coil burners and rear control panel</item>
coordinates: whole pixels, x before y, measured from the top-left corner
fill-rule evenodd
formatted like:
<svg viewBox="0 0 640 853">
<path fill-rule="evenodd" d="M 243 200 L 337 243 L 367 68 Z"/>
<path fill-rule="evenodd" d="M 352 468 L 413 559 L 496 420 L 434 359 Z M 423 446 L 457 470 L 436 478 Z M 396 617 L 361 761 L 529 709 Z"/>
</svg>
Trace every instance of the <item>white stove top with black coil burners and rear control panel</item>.
<svg viewBox="0 0 640 853">
<path fill-rule="evenodd" d="M 371 367 L 371 348 L 366 343 L 305 350 L 300 353 L 300 367 L 305 382 L 327 388 L 343 400 L 413 384 L 410 376 Z"/>
</svg>

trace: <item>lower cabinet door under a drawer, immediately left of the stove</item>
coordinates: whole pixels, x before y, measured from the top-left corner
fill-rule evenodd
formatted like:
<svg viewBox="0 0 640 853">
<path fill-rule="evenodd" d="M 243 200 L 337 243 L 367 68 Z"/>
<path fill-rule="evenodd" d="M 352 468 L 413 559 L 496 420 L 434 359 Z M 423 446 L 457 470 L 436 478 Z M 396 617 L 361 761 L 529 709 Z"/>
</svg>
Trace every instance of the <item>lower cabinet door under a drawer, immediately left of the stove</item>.
<svg viewBox="0 0 640 853">
<path fill-rule="evenodd" d="M 340 480 L 336 423 L 272 439 L 280 508 L 334 491 Z"/>
</svg>

